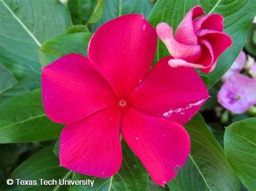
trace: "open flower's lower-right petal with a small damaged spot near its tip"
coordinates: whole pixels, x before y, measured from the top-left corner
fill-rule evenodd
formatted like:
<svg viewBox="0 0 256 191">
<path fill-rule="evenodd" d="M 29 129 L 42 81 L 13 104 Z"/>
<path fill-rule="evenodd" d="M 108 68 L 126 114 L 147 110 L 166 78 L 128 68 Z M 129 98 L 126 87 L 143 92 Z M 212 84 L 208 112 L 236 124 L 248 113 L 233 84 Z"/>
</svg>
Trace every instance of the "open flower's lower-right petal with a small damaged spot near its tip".
<svg viewBox="0 0 256 191">
<path fill-rule="evenodd" d="M 190 152 L 190 137 L 183 126 L 133 108 L 124 110 L 121 132 L 152 180 L 161 186 L 177 175 Z"/>
</svg>

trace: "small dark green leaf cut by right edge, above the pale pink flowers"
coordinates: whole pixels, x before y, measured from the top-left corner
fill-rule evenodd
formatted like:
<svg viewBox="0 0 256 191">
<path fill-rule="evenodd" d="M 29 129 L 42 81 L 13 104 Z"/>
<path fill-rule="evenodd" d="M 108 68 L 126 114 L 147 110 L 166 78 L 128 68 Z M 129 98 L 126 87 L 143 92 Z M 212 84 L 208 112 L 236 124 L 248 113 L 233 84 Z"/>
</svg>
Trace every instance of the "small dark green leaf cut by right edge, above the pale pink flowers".
<svg viewBox="0 0 256 191">
<path fill-rule="evenodd" d="M 246 39 L 245 39 L 245 49 L 248 53 L 256 56 L 256 24 L 252 23 L 250 26 L 249 30 L 247 31 L 246 34 Z"/>
</svg>

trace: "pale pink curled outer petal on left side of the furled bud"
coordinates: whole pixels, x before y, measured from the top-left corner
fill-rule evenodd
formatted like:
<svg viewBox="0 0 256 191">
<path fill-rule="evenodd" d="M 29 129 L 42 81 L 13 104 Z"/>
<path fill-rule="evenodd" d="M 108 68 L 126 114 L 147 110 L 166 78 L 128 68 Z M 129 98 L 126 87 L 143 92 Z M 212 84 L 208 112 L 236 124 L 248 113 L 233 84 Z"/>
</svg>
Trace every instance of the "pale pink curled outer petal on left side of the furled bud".
<svg viewBox="0 0 256 191">
<path fill-rule="evenodd" d="M 179 41 L 173 38 L 172 28 L 167 23 L 159 23 L 157 25 L 157 34 L 174 58 L 181 58 L 187 62 L 196 62 L 200 58 L 200 45 L 179 43 Z"/>
</svg>

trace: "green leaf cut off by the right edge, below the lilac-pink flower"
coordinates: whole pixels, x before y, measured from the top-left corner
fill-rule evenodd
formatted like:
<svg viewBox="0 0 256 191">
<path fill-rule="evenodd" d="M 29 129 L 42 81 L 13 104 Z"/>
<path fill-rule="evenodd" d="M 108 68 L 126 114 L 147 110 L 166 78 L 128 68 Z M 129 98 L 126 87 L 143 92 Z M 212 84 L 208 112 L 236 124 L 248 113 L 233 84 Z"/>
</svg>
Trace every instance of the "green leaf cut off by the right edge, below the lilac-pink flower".
<svg viewBox="0 0 256 191">
<path fill-rule="evenodd" d="M 256 185 L 256 118 L 228 126 L 224 134 L 225 152 L 235 173 L 249 189 Z"/>
</svg>

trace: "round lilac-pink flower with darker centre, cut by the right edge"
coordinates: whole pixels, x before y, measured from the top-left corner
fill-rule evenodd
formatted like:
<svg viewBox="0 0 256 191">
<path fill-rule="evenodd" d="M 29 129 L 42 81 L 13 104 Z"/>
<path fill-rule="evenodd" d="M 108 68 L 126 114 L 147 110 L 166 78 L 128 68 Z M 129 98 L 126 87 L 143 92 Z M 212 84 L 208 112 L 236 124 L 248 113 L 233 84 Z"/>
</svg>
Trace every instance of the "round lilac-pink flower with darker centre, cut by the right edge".
<svg viewBox="0 0 256 191">
<path fill-rule="evenodd" d="M 242 114 L 256 104 L 256 80 L 242 74 L 233 74 L 221 87 L 218 101 L 234 114 Z"/>
</svg>

